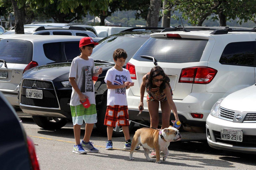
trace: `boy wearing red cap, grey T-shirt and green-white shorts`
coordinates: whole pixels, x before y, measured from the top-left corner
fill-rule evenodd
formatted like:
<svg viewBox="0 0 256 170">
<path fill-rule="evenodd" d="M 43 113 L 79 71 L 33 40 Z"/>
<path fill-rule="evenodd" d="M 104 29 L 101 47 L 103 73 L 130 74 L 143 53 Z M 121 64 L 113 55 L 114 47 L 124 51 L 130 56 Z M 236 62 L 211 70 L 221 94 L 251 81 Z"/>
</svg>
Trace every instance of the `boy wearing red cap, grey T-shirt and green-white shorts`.
<svg viewBox="0 0 256 170">
<path fill-rule="evenodd" d="M 93 53 L 95 45 L 98 43 L 93 42 L 90 37 L 84 37 L 80 40 L 79 50 L 81 54 L 73 59 L 69 72 L 69 82 L 72 85 L 70 108 L 76 141 L 73 152 L 76 154 L 86 154 L 84 149 L 89 152 L 99 151 L 93 146 L 93 142 L 90 142 L 93 125 L 97 123 L 93 77 L 102 73 L 102 68 L 99 69 L 98 73 L 95 73 L 94 60 L 89 57 Z M 89 108 L 85 108 L 82 104 L 86 100 L 90 101 Z M 86 123 L 85 134 L 80 142 L 83 120 Z"/>
</svg>

